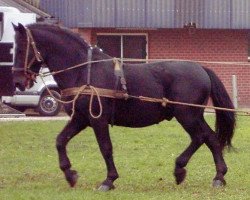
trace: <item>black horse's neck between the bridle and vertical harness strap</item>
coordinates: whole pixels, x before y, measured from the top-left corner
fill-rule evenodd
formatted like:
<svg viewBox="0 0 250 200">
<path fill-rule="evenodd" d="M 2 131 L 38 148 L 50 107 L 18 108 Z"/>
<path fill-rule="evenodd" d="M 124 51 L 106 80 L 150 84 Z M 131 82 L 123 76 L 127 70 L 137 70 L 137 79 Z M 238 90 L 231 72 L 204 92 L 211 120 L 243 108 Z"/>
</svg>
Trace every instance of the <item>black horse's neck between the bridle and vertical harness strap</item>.
<svg viewBox="0 0 250 200">
<path fill-rule="evenodd" d="M 64 71 L 54 75 L 60 89 L 74 87 L 76 82 L 79 81 L 82 71 L 79 69 L 66 71 L 67 68 L 75 66 L 79 63 L 87 61 L 86 51 L 84 48 L 79 48 L 80 45 L 73 44 L 73 41 L 60 42 L 60 36 L 53 37 L 51 34 L 48 36 L 44 34 L 42 37 L 39 33 L 36 35 L 38 49 L 45 59 L 45 63 L 51 72 Z M 61 39 L 61 41 L 63 41 Z M 84 80 L 82 80 L 83 82 Z"/>
</svg>

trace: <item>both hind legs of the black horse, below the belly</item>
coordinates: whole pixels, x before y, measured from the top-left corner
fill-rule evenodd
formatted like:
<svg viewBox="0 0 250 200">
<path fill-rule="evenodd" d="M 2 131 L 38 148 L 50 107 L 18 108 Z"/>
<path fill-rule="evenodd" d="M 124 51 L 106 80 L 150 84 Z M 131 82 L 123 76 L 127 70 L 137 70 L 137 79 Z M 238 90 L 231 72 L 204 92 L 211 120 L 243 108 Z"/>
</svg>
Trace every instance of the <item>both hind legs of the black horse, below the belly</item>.
<svg viewBox="0 0 250 200">
<path fill-rule="evenodd" d="M 183 128 L 189 133 L 191 137 L 191 144 L 188 148 L 176 159 L 175 177 L 177 184 L 180 184 L 186 175 L 185 166 L 187 165 L 191 156 L 195 151 L 205 142 L 213 154 L 214 162 L 216 165 L 216 176 L 214 178 L 213 186 L 225 185 L 224 175 L 227 172 L 227 166 L 222 156 L 222 149 L 216 134 L 206 123 L 204 117 L 201 115 L 199 118 L 192 118 L 188 115 L 176 117 L 181 123 Z"/>
</svg>

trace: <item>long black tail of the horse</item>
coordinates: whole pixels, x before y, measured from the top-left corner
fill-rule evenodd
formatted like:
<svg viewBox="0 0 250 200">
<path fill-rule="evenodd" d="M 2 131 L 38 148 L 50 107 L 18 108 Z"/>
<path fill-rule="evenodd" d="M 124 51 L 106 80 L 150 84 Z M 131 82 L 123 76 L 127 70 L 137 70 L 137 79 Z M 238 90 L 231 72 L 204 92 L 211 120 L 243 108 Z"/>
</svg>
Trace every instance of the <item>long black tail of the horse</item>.
<svg viewBox="0 0 250 200">
<path fill-rule="evenodd" d="M 211 80 L 211 98 L 214 106 L 233 109 L 233 103 L 221 80 L 212 70 L 205 67 L 204 69 Z M 231 141 L 234 135 L 235 122 L 234 112 L 216 110 L 215 132 L 218 134 L 222 148 L 232 146 Z"/>
</svg>

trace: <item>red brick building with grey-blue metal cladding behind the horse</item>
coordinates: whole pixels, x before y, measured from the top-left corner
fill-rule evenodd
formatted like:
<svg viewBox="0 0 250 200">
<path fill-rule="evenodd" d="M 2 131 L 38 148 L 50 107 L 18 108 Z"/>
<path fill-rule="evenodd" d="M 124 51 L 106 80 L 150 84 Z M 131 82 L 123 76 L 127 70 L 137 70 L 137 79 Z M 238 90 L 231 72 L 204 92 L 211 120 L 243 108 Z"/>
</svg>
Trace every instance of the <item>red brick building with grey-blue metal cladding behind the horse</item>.
<svg viewBox="0 0 250 200">
<path fill-rule="evenodd" d="M 60 6 L 41 0 L 40 4 L 112 56 L 207 61 L 203 65 L 217 73 L 231 97 L 236 75 L 239 106 L 250 106 L 248 0 L 62 0 Z"/>
</svg>

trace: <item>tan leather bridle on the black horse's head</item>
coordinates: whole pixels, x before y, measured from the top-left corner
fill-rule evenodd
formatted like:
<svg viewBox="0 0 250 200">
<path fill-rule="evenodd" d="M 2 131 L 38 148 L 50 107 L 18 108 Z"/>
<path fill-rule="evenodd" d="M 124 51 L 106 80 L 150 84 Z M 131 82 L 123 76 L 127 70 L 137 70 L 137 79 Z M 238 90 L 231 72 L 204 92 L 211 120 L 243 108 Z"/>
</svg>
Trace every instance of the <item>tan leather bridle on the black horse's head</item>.
<svg viewBox="0 0 250 200">
<path fill-rule="evenodd" d="M 35 40 L 32 36 L 31 31 L 25 27 L 26 30 L 26 38 L 27 38 L 27 45 L 26 45 L 26 51 L 25 51 L 25 60 L 24 60 L 24 67 L 23 68 L 17 68 L 12 67 L 12 72 L 22 72 L 24 73 L 25 77 L 28 80 L 35 81 L 37 73 L 33 72 L 30 68 L 32 64 L 34 64 L 35 61 L 44 64 L 44 59 L 41 55 L 41 53 L 38 51 Z M 30 46 L 33 49 L 34 57 L 29 61 L 29 53 L 30 53 Z"/>
</svg>

